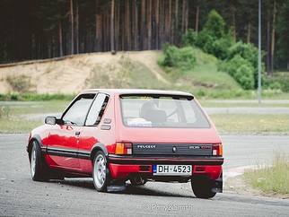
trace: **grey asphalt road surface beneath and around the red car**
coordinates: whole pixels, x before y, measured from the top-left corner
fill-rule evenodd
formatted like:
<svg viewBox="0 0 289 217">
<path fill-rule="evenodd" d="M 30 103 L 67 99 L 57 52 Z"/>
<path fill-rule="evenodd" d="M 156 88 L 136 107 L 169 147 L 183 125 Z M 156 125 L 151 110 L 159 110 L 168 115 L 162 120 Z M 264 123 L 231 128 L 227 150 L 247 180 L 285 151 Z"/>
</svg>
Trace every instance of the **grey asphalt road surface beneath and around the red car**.
<svg viewBox="0 0 289 217">
<path fill-rule="evenodd" d="M 147 183 L 99 193 L 92 179 L 34 182 L 25 151 L 28 135 L 0 135 L 0 216 L 288 216 L 289 200 L 217 194 L 197 199 L 189 184 Z M 223 135 L 225 173 L 268 161 L 289 136 Z M 229 172 L 227 172 L 229 173 Z"/>
</svg>

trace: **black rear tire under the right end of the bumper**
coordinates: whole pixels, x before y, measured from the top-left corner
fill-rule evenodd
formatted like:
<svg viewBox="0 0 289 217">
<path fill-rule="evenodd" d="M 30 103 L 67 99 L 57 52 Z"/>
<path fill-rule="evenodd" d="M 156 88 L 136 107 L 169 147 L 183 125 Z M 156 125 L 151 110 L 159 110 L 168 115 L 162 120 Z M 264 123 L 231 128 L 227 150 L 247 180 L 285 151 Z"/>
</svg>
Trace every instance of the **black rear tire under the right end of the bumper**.
<svg viewBox="0 0 289 217">
<path fill-rule="evenodd" d="M 198 198 L 208 199 L 215 196 L 215 192 L 212 192 L 212 181 L 209 178 L 193 178 L 191 180 L 191 186 Z"/>
</svg>

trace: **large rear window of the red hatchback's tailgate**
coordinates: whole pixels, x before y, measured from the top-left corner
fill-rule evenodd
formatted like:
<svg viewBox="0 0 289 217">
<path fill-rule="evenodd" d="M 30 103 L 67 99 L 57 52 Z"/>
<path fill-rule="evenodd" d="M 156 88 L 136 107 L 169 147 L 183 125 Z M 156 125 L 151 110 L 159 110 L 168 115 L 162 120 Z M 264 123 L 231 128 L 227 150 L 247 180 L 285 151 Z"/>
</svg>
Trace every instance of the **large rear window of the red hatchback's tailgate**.
<svg viewBox="0 0 289 217">
<path fill-rule="evenodd" d="M 120 96 L 124 126 L 209 128 L 193 97 L 162 95 Z"/>
</svg>

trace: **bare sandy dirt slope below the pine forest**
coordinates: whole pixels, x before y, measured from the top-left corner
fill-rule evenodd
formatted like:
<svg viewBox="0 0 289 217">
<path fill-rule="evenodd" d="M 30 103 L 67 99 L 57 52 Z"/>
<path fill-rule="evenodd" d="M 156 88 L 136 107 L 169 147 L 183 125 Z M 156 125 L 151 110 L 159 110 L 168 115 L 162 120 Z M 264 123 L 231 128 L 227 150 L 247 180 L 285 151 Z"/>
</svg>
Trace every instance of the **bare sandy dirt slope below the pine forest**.
<svg viewBox="0 0 289 217">
<path fill-rule="evenodd" d="M 7 78 L 25 77 L 29 91 L 37 93 L 74 94 L 91 88 L 93 70 L 113 76 L 123 72 L 121 60 L 138 61 L 150 68 L 155 79 L 166 82 L 157 65 L 158 51 L 118 52 L 117 55 L 92 53 L 67 56 L 62 59 L 22 62 L 16 65 L 0 65 L 0 93 L 15 92 Z M 108 76 L 108 77 L 109 77 Z M 111 87 L 115 88 L 115 87 Z"/>
</svg>

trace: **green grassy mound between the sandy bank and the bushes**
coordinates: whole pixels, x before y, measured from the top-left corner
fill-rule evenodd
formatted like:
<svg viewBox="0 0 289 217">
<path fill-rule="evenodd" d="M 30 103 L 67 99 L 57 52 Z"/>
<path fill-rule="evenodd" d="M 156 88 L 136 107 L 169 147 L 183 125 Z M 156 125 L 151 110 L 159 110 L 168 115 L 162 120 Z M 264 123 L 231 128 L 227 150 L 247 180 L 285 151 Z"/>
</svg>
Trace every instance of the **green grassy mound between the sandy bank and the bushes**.
<svg viewBox="0 0 289 217">
<path fill-rule="evenodd" d="M 244 95 L 240 85 L 229 74 L 218 72 L 218 60 L 195 49 L 197 64 L 195 67 L 181 71 L 172 68 L 168 73 L 172 77 L 172 89 L 188 91 L 197 98 L 232 99 Z"/>
</svg>

